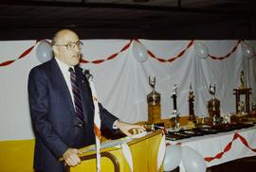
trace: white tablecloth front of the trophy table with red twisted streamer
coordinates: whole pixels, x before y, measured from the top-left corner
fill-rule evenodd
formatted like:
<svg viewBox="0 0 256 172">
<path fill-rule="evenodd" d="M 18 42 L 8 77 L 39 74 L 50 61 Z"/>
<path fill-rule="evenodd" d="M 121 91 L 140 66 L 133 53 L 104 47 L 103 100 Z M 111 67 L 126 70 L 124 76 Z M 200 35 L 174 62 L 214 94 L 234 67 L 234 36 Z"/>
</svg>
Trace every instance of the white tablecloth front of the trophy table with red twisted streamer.
<svg viewBox="0 0 256 172">
<path fill-rule="evenodd" d="M 190 146 L 205 158 L 207 167 L 210 167 L 236 159 L 256 156 L 256 126 L 177 141 L 167 140 L 166 143 Z M 185 171 L 182 162 L 179 164 L 179 168 L 180 172 Z"/>
</svg>

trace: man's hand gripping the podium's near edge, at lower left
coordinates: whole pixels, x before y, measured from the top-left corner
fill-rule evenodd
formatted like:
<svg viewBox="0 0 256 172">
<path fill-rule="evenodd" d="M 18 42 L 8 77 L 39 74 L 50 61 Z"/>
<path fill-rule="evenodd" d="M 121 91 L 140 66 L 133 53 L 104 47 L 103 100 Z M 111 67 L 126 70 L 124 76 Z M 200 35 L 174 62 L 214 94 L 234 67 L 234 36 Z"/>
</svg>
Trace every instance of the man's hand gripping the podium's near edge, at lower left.
<svg viewBox="0 0 256 172">
<path fill-rule="evenodd" d="M 64 162 L 67 163 L 69 166 L 76 166 L 78 163 L 81 162 L 78 154 L 82 154 L 82 151 L 77 148 L 68 148 L 64 152 Z"/>
</svg>

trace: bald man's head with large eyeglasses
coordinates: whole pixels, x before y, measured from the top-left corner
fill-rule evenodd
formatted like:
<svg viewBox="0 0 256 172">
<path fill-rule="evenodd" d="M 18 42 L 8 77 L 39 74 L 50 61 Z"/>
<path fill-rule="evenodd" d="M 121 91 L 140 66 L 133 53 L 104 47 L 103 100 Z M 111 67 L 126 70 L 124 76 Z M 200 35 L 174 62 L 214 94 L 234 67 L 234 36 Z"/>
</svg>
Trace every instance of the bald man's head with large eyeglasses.
<svg viewBox="0 0 256 172">
<path fill-rule="evenodd" d="M 69 29 L 58 31 L 52 39 L 54 56 L 69 66 L 77 65 L 81 59 L 81 46 L 78 35 Z"/>
</svg>

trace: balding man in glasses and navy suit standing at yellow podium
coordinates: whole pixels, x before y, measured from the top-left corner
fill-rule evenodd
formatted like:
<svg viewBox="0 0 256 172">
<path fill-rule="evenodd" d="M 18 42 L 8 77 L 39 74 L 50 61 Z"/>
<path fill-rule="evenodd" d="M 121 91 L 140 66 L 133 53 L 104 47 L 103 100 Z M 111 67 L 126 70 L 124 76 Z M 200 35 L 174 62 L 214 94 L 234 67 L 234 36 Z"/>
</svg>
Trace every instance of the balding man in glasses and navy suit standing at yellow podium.
<svg viewBox="0 0 256 172">
<path fill-rule="evenodd" d="M 81 46 L 75 32 L 60 30 L 52 40 L 54 58 L 29 73 L 28 99 L 36 140 L 36 171 L 63 172 L 64 162 L 70 166 L 81 162 L 78 154 L 82 152 L 78 148 L 95 144 L 91 89 L 78 66 Z M 70 79 L 72 71 L 78 84 L 75 91 L 76 84 Z M 113 132 L 118 128 L 131 135 L 131 129 L 144 130 L 141 126 L 119 121 L 101 104 L 99 107 L 102 123 Z M 61 157 L 63 163 L 58 161 Z"/>
</svg>

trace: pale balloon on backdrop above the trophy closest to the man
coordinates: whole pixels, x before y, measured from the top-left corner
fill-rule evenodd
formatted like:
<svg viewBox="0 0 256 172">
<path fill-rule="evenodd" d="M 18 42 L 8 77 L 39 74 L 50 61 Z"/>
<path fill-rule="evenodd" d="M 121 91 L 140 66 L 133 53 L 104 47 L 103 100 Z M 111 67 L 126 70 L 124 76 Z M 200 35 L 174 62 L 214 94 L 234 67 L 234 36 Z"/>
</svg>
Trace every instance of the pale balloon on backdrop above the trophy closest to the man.
<svg viewBox="0 0 256 172">
<path fill-rule="evenodd" d="M 146 47 L 137 41 L 133 42 L 133 55 L 138 62 L 144 62 L 148 59 Z"/>
</svg>

